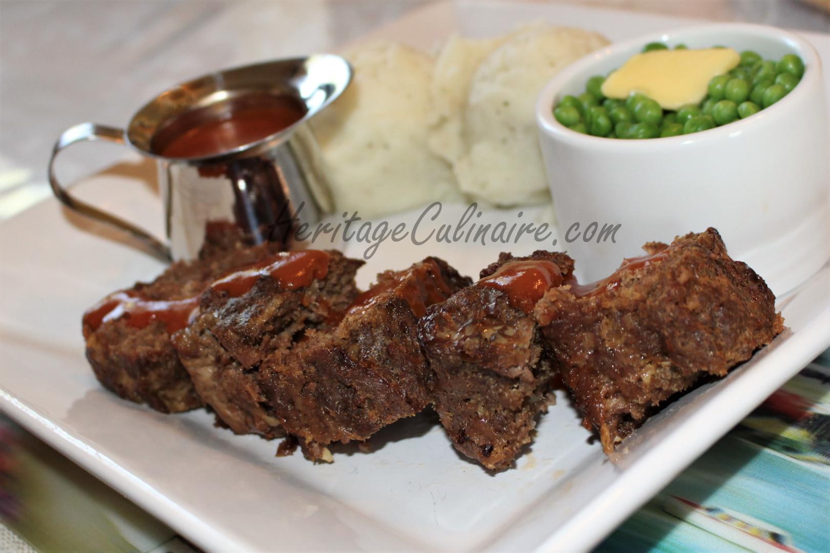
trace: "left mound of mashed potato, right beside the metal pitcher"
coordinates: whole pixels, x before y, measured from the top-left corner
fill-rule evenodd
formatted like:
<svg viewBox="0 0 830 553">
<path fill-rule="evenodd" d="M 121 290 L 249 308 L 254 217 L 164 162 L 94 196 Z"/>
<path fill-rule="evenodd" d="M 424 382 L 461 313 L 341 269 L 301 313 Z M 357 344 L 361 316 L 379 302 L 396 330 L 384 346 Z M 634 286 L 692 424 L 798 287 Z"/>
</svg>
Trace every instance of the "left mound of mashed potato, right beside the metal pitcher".
<svg viewBox="0 0 830 553">
<path fill-rule="evenodd" d="M 427 148 L 432 58 L 390 42 L 343 56 L 354 80 L 312 120 L 336 209 L 369 218 L 461 200 L 452 168 Z"/>
</svg>

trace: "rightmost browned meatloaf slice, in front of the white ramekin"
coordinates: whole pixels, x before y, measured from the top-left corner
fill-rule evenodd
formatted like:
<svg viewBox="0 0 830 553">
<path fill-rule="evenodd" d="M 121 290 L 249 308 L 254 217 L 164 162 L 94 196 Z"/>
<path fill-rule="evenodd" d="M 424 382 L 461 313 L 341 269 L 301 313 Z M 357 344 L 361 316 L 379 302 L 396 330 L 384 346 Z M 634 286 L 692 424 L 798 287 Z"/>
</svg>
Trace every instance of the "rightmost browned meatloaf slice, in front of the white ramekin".
<svg viewBox="0 0 830 553">
<path fill-rule="evenodd" d="M 552 289 L 536 305 L 564 381 L 603 449 L 704 374 L 727 371 L 783 329 L 764 280 L 731 260 L 715 229 L 644 246 L 599 283 Z"/>
</svg>

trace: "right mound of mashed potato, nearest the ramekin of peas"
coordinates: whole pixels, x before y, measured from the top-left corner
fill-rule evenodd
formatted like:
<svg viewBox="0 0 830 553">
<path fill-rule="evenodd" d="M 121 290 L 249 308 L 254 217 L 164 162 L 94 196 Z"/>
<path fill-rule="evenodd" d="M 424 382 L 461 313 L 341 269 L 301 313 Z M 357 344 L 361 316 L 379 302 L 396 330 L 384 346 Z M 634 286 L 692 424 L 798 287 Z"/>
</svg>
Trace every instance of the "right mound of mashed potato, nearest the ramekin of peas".
<svg viewBox="0 0 830 553">
<path fill-rule="evenodd" d="M 550 201 L 535 123 L 537 96 L 566 65 L 608 41 L 595 32 L 543 25 L 524 27 L 490 51 L 492 43 L 458 41 L 463 39 L 447 43 L 439 67 L 461 60 L 452 86 L 466 101 L 450 100 L 461 104 L 460 120 L 435 125 L 432 147 L 443 145 L 451 154 L 461 192 L 476 199 L 497 206 Z M 433 102 L 446 101 L 442 95 L 447 85 L 433 86 Z"/>
</svg>

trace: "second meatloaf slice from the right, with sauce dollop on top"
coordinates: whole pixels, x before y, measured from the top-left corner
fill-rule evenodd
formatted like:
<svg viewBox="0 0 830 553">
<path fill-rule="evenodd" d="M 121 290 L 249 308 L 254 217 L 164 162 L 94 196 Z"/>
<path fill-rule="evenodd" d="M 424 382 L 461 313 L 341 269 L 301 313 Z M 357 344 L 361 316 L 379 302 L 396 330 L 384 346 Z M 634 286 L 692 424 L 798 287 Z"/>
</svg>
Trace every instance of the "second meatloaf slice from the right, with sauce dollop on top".
<svg viewBox="0 0 830 553">
<path fill-rule="evenodd" d="M 435 407 L 447 435 L 462 454 L 493 470 L 510 467 L 530 442 L 536 415 L 554 399 L 550 388 L 555 366 L 544 352 L 532 314 L 544 293 L 535 288 L 539 262 L 553 264 L 560 277 L 574 269 L 573 260 L 564 254 L 501 254 L 481 271 L 482 280 L 432 306 L 419 324 L 437 376 Z M 529 273 L 520 272 L 527 268 Z M 510 271 L 530 276 L 525 292 L 537 289 L 537 295 L 515 298 L 510 286 L 492 285 Z M 516 284 L 521 282 L 512 286 Z M 544 286 L 559 284 L 561 278 Z"/>
</svg>

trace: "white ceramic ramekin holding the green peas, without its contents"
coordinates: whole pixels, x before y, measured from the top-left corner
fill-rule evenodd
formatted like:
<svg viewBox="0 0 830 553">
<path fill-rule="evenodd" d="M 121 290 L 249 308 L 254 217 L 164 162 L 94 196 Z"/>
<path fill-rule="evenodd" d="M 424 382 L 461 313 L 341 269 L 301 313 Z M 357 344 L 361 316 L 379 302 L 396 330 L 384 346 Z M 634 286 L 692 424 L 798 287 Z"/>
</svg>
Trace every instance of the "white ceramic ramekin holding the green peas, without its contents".
<svg viewBox="0 0 830 553">
<path fill-rule="evenodd" d="M 552 107 L 564 95 L 580 94 L 588 77 L 607 75 L 653 41 L 724 45 L 776 61 L 795 53 L 806 70 L 778 103 L 701 133 L 596 138 L 554 119 Z M 536 119 L 565 241 L 560 245 L 576 260 L 581 279 L 607 276 L 623 257 L 641 255 L 647 241 L 668 242 L 708 226 L 720 230 L 730 255 L 755 269 L 776 294 L 801 284 L 830 259 L 830 138 L 821 61 L 813 46 L 792 33 L 712 24 L 608 46 L 544 87 Z M 597 235 L 586 241 L 582 233 L 593 222 L 600 229 L 620 224 L 616 243 L 598 243 Z"/>
</svg>

